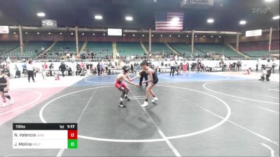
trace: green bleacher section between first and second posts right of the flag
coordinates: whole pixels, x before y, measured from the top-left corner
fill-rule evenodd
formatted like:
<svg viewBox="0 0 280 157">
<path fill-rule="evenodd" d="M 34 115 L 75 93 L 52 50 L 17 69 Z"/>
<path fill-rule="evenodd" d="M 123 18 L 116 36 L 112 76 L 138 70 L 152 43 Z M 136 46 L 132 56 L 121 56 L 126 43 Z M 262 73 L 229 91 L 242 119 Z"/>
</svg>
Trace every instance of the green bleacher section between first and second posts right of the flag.
<svg viewBox="0 0 280 157">
<path fill-rule="evenodd" d="M 205 53 L 218 53 L 229 57 L 241 56 L 241 54 L 238 54 L 235 50 L 223 44 L 195 44 L 195 48 Z"/>
</svg>

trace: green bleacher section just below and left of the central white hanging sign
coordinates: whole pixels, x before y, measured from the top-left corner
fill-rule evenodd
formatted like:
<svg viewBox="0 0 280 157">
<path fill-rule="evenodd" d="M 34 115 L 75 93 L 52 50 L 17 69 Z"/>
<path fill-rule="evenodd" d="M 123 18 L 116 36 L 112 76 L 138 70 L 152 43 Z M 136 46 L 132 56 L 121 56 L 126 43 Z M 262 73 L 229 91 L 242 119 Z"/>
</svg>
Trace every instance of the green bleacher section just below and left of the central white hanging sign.
<svg viewBox="0 0 280 157">
<path fill-rule="evenodd" d="M 112 43 L 88 42 L 86 50 L 94 52 L 95 57 L 106 57 L 113 55 Z"/>
</svg>

